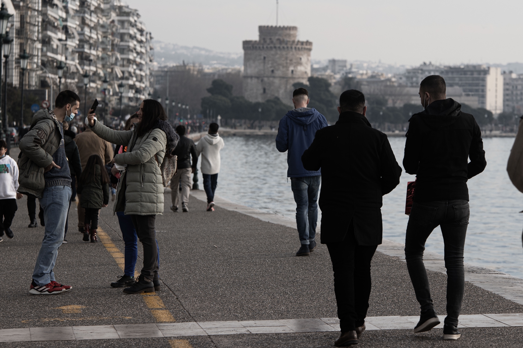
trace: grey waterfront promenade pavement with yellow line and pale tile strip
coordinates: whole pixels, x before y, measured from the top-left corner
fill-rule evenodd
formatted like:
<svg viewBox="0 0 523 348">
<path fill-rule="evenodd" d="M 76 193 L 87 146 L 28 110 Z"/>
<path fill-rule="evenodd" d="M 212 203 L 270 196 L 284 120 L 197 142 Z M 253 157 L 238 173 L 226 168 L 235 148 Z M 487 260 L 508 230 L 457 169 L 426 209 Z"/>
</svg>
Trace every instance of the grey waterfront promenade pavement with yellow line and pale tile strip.
<svg viewBox="0 0 523 348">
<path fill-rule="evenodd" d="M 192 191 L 189 213 L 168 209 L 156 219 L 162 290 L 123 295 L 111 281 L 123 274 L 123 241 L 110 208 L 100 213 L 99 243 L 85 243 L 70 211 L 69 243 L 60 247 L 57 280 L 73 285 L 55 296 L 28 294 L 43 227 L 28 229 L 26 199 L 18 201 L 15 238 L 0 243 L 0 347 L 331 347 L 338 337 L 331 262 L 319 245 L 299 247 L 292 219 L 217 199 L 205 211 Z M 460 326 L 414 334 L 419 306 L 401 259 L 386 242 L 372 263 L 373 289 L 363 347 L 520 347 L 523 303 L 518 278 L 469 266 Z M 141 246 L 137 270 L 141 268 Z M 427 255 L 436 311 L 445 316 L 441 256 Z M 480 286 L 477 286 L 477 285 Z M 489 289 L 485 290 L 485 289 Z"/>
</svg>

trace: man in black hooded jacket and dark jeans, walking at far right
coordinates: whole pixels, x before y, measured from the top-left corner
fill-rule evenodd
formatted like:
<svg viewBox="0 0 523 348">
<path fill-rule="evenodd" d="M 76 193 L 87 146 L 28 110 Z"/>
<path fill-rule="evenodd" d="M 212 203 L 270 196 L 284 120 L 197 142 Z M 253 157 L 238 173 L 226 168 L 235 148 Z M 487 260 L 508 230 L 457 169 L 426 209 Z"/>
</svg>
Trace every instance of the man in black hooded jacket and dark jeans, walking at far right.
<svg viewBox="0 0 523 348">
<path fill-rule="evenodd" d="M 467 180 L 486 166 L 481 130 L 460 103 L 446 99 L 445 80 L 426 77 L 419 86 L 423 112 L 409 120 L 403 166 L 416 174 L 414 203 L 408 219 L 405 259 L 421 316 L 414 332 L 439 324 L 423 264 L 425 242 L 439 225 L 445 242 L 447 317 L 444 340 L 457 340 L 464 290 L 463 249 L 469 223 Z M 470 158 L 470 162 L 468 159 Z"/>
</svg>

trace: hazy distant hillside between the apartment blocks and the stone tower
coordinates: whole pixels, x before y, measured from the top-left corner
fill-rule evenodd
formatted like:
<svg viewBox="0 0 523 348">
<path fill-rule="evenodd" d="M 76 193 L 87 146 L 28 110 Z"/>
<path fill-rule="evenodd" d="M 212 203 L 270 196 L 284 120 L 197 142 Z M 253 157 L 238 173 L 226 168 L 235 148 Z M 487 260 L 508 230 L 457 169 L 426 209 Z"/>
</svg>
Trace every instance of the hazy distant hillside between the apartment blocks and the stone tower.
<svg viewBox="0 0 523 348">
<path fill-rule="evenodd" d="M 204 66 L 243 66 L 243 53 L 216 52 L 202 47 L 180 46 L 153 41 L 154 60 L 160 64 L 202 64 Z"/>
</svg>

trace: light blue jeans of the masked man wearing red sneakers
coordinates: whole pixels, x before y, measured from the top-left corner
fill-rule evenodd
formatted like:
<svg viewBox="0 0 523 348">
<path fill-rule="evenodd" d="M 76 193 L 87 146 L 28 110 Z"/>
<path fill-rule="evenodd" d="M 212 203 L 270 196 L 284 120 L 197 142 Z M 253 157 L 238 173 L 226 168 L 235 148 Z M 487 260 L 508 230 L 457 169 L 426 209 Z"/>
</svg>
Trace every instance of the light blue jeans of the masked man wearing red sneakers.
<svg viewBox="0 0 523 348">
<path fill-rule="evenodd" d="M 43 197 L 39 199 L 46 221 L 46 231 L 32 276 L 37 285 L 43 286 L 55 281 L 53 268 L 58 256 L 58 248 L 64 240 L 70 199 L 71 187 L 62 185 L 46 187 L 43 190 Z"/>
</svg>

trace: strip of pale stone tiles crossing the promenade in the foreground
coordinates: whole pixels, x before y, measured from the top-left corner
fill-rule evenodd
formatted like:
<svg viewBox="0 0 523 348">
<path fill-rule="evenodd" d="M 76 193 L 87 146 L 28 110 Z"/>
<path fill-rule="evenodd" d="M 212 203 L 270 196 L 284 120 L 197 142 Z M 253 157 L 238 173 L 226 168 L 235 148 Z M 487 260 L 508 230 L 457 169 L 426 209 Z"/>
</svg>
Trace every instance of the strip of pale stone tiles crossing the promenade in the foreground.
<svg viewBox="0 0 523 348">
<path fill-rule="evenodd" d="M 444 316 L 440 316 L 443 327 Z M 368 317 L 367 330 L 413 329 L 417 316 Z M 459 317 L 460 328 L 523 326 L 523 313 L 471 314 Z M 152 337 L 184 337 L 253 333 L 339 331 L 338 318 L 203 321 L 133 325 L 66 326 L 0 330 L 0 342 L 103 340 Z"/>
</svg>

